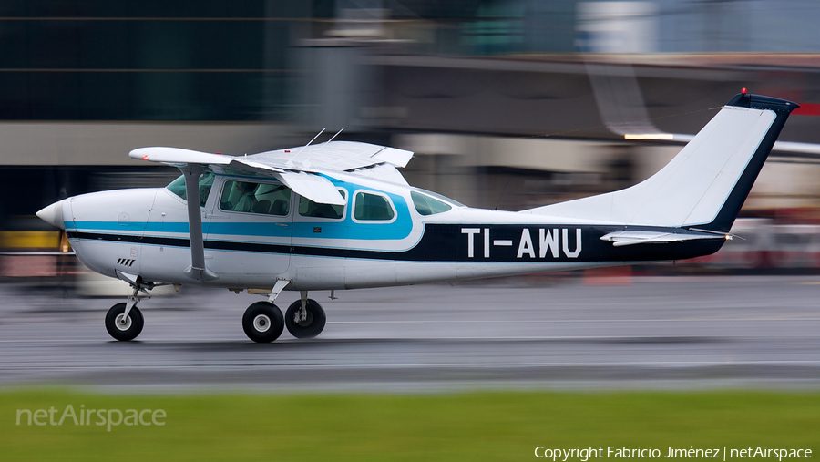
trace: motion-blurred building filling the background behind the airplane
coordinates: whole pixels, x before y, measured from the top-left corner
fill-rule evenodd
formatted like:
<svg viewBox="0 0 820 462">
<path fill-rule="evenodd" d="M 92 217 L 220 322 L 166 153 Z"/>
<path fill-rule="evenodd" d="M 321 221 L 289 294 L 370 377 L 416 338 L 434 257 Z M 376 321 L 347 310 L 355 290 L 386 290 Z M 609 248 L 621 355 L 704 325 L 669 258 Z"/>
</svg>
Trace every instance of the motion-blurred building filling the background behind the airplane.
<svg viewBox="0 0 820 462">
<path fill-rule="evenodd" d="M 0 247 L 59 246 L 30 238 L 62 197 L 177 175 L 128 159 L 143 146 L 344 128 L 415 150 L 411 184 L 518 210 L 648 177 L 680 146 L 625 128 L 693 134 L 741 87 L 801 103 L 781 139 L 820 143 L 818 19 L 808 0 L 5 2 Z M 772 158 L 744 213 L 815 222 L 817 163 Z"/>
</svg>

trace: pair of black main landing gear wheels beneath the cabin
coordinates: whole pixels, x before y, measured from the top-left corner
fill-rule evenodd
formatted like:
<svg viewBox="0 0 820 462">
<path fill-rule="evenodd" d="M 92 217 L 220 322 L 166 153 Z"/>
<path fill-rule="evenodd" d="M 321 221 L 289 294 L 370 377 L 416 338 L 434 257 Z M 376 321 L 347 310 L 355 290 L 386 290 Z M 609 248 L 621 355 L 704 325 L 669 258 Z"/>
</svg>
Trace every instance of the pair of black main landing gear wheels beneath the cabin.
<svg viewBox="0 0 820 462">
<path fill-rule="evenodd" d="M 279 338 L 284 327 L 296 338 L 310 338 L 322 333 L 327 317 L 322 305 L 307 298 L 307 291 L 301 291 L 300 300 L 293 302 L 282 316 L 272 300 L 251 304 L 242 316 L 242 329 L 254 342 L 268 343 Z M 278 293 L 271 298 L 275 299 Z"/>
</svg>

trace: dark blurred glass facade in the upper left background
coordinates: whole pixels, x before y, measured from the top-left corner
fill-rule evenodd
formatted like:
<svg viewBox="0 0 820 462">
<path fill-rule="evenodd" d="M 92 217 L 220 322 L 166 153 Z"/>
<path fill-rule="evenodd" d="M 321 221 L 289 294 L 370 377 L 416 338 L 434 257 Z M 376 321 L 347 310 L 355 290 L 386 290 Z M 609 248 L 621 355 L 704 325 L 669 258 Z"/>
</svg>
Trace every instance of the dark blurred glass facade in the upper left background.
<svg viewBox="0 0 820 462">
<path fill-rule="evenodd" d="M 276 120 L 308 2 L 0 4 L 0 119 Z"/>
</svg>

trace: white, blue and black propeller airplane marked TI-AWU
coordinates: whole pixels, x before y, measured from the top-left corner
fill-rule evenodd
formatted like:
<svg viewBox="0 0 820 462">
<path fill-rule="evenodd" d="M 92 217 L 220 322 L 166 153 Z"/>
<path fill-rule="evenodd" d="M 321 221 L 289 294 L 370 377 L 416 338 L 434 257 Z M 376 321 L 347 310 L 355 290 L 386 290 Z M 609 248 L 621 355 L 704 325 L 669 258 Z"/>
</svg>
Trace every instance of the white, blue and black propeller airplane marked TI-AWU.
<svg viewBox="0 0 820 462">
<path fill-rule="evenodd" d="M 413 152 L 354 141 L 245 156 L 141 148 L 178 167 L 165 188 L 109 190 L 37 212 L 66 231 L 80 262 L 130 284 L 105 325 L 128 341 L 137 304 L 160 285 L 260 294 L 242 316 L 254 342 L 322 333 L 310 291 L 456 282 L 677 261 L 717 252 L 789 114 L 799 105 L 735 95 L 669 164 L 624 190 L 529 210 L 466 207 L 410 186 Z M 320 132 L 321 134 L 321 132 Z M 338 133 L 337 133 L 338 135 Z M 317 135 L 318 137 L 318 135 Z M 299 291 L 285 313 L 274 304 Z"/>
</svg>

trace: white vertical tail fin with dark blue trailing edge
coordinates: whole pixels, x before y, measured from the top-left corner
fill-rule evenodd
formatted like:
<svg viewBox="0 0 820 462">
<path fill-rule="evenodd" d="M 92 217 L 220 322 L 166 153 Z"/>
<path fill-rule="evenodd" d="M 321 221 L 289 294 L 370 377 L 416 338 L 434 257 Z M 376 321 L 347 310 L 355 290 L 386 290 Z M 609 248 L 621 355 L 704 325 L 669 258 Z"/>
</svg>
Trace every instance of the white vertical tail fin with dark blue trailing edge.
<svg viewBox="0 0 820 462">
<path fill-rule="evenodd" d="M 625 190 L 522 212 L 728 232 L 795 108 L 794 102 L 744 91 L 649 179 Z"/>
</svg>

